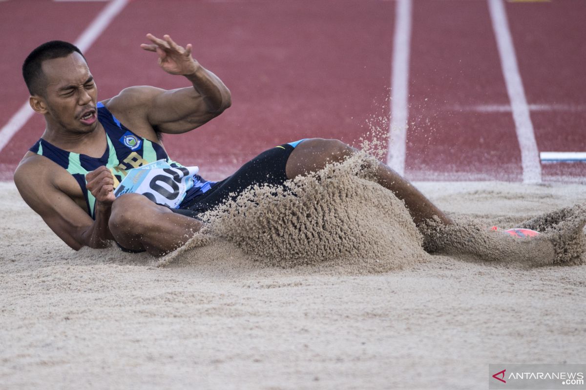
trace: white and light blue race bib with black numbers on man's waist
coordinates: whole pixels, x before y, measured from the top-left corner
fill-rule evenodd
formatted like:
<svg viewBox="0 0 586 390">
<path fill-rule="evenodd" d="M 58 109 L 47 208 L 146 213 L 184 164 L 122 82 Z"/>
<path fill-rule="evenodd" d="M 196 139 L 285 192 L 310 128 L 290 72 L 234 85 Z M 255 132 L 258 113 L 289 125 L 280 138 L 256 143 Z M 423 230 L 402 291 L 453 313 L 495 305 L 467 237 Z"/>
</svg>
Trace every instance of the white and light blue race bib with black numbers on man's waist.
<svg viewBox="0 0 586 390">
<path fill-rule="evenodd" d="M 158 160 L 127 171 L 114 195 L 141 194 L 159 205 L 176 209 L 193 187 L 193 175 L 198 171 L 198 167 L 171 167 L 167 161 Z"/>
</svg>

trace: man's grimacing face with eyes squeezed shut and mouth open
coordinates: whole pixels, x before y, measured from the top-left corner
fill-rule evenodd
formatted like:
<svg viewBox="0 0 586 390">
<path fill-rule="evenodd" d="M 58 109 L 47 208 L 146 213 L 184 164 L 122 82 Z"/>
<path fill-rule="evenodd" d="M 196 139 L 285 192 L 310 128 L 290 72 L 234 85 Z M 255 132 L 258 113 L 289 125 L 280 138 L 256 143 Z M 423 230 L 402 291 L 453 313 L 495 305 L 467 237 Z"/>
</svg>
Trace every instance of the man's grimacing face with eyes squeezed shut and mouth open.
<svg viewBox="0 0 586 390">
<path fill-rule="evenodd" d="M 79 53 L 43 61 L 47 123 L 70 133 L 90 133 L 96 129 L 97 88 L 86 61 Z"/>
</svg>

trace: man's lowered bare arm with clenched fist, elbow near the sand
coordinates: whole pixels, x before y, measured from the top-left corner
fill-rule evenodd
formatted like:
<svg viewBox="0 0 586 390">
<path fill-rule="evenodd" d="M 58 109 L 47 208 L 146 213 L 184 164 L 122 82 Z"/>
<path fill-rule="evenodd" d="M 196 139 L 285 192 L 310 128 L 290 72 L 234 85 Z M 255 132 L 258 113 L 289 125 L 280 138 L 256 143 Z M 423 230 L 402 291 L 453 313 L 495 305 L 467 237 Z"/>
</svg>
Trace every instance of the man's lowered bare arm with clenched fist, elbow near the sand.
<svg viewBox="0 0 586 390">
<path fill-rule="evenodd" d="M 114 184 L 110 171 L 106 169 L 110 174 L 111 183 L 102 170 L 94 171 L 96 174 L 88 179 L 87 188 L 93 188 L 96 195 L 100 196 L 100 201 L 96 199 L 96 220 L 93 220 L 62 188 L 59 188 L 59 182 L 55 179 L 59 172 L 55 171 L 56 167 L 51 166 L 54 163 L 39 164 L 40 156 L 35 157 L 23 160 L 14 174 L 16 188 L 25 202 L 71 248 L 79 250 L 83 246 L 106 247 L 107 240 L 113 239 L 108 230 L 108 219 L 114 199 L 111 187 L 108 187 Z M 67 183 L 64 183 L 63 187 L 67 187 Z"/>
</svg>

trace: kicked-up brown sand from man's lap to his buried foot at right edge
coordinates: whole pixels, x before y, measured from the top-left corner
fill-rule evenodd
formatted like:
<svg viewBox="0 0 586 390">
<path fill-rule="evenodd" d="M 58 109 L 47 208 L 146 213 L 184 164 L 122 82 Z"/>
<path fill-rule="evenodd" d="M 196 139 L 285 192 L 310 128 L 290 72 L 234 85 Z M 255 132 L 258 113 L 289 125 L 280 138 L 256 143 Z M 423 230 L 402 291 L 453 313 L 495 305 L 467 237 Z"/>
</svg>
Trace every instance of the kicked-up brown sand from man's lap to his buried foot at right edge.
<svg viewBox="0 0 586 390">
<path fill-rule="evenodd" d="M 428 252 L 522 267 L 584 261 L 586 213 L 581 205 L 516 226 L 543 233 L 532 239 L 494 232 L 472 219 L 450 226 L 430 220 L 416 227 L 404 202 L 372 181 L 371 167 L 386 156 L 388 127 L 383 118 L 368 123 L 369 132 L 358 140 L 360 150 L 346 160 L 283 187 L 248 188 L 205 213 L 205 229 L 159 265 L 206 256 L 206 246 L 213 247 L 214 257 L 222 257 L 223 243 L 235 244 L 239 256 L 268 267 L 337 264 L 359 273 L 430 261 Z"/>
</svg>

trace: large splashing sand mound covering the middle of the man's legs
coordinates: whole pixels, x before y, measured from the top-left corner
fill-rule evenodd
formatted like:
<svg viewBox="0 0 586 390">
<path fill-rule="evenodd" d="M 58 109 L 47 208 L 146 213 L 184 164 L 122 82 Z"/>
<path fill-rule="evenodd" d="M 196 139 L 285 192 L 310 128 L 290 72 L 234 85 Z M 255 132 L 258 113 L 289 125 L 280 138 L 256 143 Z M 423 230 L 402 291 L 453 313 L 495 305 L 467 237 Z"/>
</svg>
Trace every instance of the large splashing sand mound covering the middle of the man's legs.
<svg viewBox="0 0 586 390">
<path fill-rule="evenodd" d="M 423 237 L 403 201 L 365 178 L 369 161 L 358 153 L 284 187 L 249 188 L 207 213 L 209 228 L 180 250 L 213 236 L 236 243 L 251 260 L 283 268 L 336 263 L 384 272 L 424 261 Z"/>
</svg>

